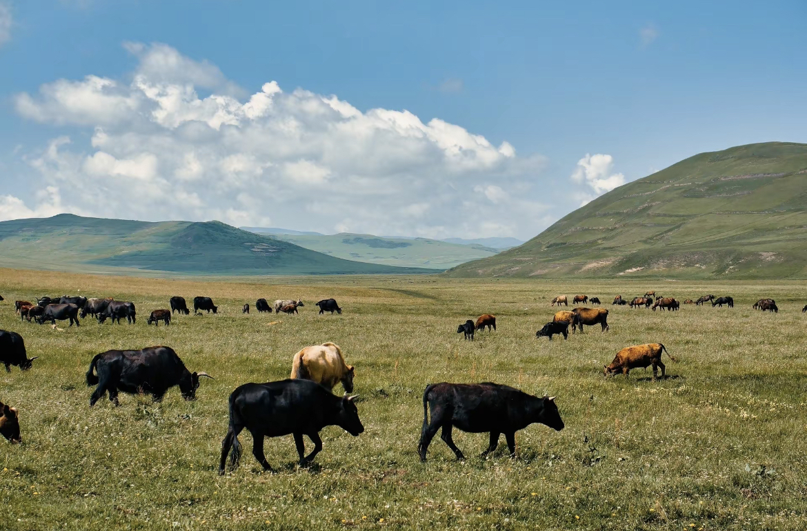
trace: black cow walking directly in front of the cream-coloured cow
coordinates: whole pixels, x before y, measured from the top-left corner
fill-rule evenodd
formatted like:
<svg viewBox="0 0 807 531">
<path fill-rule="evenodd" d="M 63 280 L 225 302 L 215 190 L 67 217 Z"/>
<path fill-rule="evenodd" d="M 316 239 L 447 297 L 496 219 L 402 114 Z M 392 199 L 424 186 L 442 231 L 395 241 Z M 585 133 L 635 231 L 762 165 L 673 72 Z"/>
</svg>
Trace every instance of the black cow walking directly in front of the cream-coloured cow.
<svg viewBox="0 0 807 531">
<path fill-rule="evenodd" d="M 230 425 L 221 442 L 219 474 L 232 447 L 230 464 L 238 466 L 241 445 L 238 434 L 243 429 L 253 436 L 253 455 L 264 470 L 272 470 L 263 454 L 264 437 L 293 435 L 300 458 L 300 466 L 311 462 L 322 449 L 320 430 L 325 426 L 339 426 L 357 437 L 364 431 L 353 403 L 356 396 L 332 395 L 331 391 L 310 380 L 281 380 L 269 383 L 245 383 L 230 395 Z M 314 443 L 311 454 L 305 455 L 303 435 Z"/>
</svg>

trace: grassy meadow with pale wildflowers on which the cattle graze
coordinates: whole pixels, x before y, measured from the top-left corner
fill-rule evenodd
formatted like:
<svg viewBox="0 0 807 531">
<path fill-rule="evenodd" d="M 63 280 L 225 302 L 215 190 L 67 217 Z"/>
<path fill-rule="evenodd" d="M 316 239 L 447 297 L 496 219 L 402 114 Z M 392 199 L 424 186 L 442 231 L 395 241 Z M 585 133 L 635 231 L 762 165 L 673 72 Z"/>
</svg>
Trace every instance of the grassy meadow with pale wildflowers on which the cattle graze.
<svg viewBox="0 0 807 531">
<path fill-rule="evenodd" d="M 729 308 L 675 313 L 608 303 L 655 289 L 679 300 L 732 295 Z M 36 295 L 132 300 L 136 325 L 21 324 L 14 299 Z M 23 443 L 0 441 L 2 529 L 805 529 L 807 303 L 803 282 L 459 281 L 433 277 L 271 278 L 191 282 L 0 270 L 0 328 L 20 332 L 34 368 L 0 373 L 0 399 L 19 408 Z M 597 295 L 611 329 L 538 341 L 550 299 Z M 219 316 L 148 327 L 171 295 L 211 296 Z M 258 297 L 301 297 L 299 316 L 240 313 Z M 344 313 L 319 316 L 336 298 Z M 778 315 L 751 310 L 763 296 Z M 483 312 L 499 330 L 462 341 L 457 325 Z M 227 398 L 240 383 L 286 378 L 305 345 L 334 341 L 356 366 L 366 431 L 324 429 L 324 450 L 301 469 L 291 437 L 268 439 L 279 472 L 249 449 L 217 475 Z M 662 342 L 679 358 L 605 379 L 626 345 Z M 94 354 L 169 345 L 205 370 L 194 402 L 121 395 L 88 406 Z M 457 433 L 465 462 L 436 437 L 416 456 L 428 383 L 508 383 L 557 395 L 566 429 L 533 425 L 477 457 L 487 436 Z M 341 392 L 341 387 L 335 391 Z M 307 441 L 307 449 L 312 447 Z"/>
</svg>

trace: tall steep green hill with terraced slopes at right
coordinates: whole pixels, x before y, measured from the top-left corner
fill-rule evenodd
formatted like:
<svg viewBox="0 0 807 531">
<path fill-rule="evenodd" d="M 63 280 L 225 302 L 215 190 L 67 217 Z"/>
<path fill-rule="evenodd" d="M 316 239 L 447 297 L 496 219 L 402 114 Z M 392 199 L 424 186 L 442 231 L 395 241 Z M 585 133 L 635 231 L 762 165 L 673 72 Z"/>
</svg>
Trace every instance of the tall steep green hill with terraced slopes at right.
<svg viewBox="0 0 807 531">
<path fill-rule="evenodd" d="M 807 144 L 700 153 L 445 274 L 807 278 Z"/>
</svg>

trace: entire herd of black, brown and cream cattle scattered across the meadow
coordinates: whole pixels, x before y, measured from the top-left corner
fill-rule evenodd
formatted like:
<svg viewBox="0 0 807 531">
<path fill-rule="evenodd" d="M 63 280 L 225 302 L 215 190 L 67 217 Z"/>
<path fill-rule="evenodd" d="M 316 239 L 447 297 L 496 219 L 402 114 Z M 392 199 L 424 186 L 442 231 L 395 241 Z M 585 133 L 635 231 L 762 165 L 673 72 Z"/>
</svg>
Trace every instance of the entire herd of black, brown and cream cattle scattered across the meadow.
<svg viewBox="0 0 807 531">
<path fill-rule="evenodd" d="M 0 297 L 0 301 L 2 301 Z M 713 307 L 734 307 L 734 299 L 729 296 L 715 297 L 704 295 L 684 304 L 701 305 L 711 303 Z M 573 305 L 592 303 L 599 305 L 598 297 L 575 295 Z M 563 304 L 569 306 L 566 295 L 559 295 L 551 301 L 551 306 Z M 170 324 L 174 312 L 189 315 L 190 309 L 182 297 L 171 297 L 170 310 L 157 309 L 151 312 L 147 324 L 157 325 L 160 321 Z M 648 291 L 643 296 L 624 299 L 617 295 L 612 305 L 628 305 L 631 308 L 645 308 L 655 311 L 679 311 L 679 302 L 671 297 L 657 296 Z M 301 299 L 278 299 L 270 304 L 266 299 L 257 299 L 255 309 L 259 312 L 296 314 L 298 308 L 304 307 Z M 316 303 L 320 315 L 325 311 L 341 314 L 334 299 L 323 299 Z M 194 314 L 205 311 L 218 313 L 209 297 L 194 297 Z M 755 310 L 778 312 L 773 299 L 759 299 L 752 306 Z M 249 313 L 249 303 L 242 311 Z M 49 322 L 56 326 L 56 320 L 69 320 L 69 325 L 80 326 L 80 320 L 93 316 L 99 324 L 106 320 L 121 323 L 125 319 L 128 324 L 136 324 L 136 307 L 132 302 L 115 299 L 86 299 L 85 297 L 42 297 L 36 303 L 24 300 L 15 302 L 15 311 L 21 320 L 31 320 L 38 324 Z M 807 306 L 802 312 L 807 312 Z M 602 307 L 574 307 L 571 310 L 557 311 L 552 320 L 536 332 L 536 337 L 548 337 L 552 341 L 555 335 L 569 337 L 569 327 L 583 333 L 583 326 L 600 325 L 602 332 L 609 329 L 608 310 Z M 474 341 L 475 332 L 496 330 L 496 318 L 491 314 L 483 314 L 476 321 L 466 320 L 460 324 L 457 332 L 464 334 L 466 340 Z M 660 343 L 632 345 L 621 349 L 613 362 L 604 366 L 604 375 L 621 373 L 627 376 L 634 368 L 652 366 L 653 379 L 661 369 L 662 378 L 666 376 L 662 354 L 667 348 Z M 23 337 L 17 332 L 0 330 L 0 363 L 6 371 L 10 366 L 19 366 L 20 370 L 31 369 L 37 357 L 27 357 Z M 237 387 L 229 398 L 229 424 L 227 434 L 222 441 L 220 456 L 220 474 L 225 473 L 227 459 L 232 467 L 237 466 L 241 449 L 238 435 L 247 429 L 253 436 L 253 455 L 265 470 L 272 470 L 263 451 L 265 437 L 281 437 L 292 435 L 299 454 L 299 462 L 305 465 L 322 449 L 320 431 L 329 425 L 336 425 L 353 436 L 364 431 L 359 420 L 358 408 L 353 392 L 355 370 L 345 362 L 338 345 L 331 342 L 323 345 L 308 346 L 292 359 L 290 378 L 270 383 L 245 383 Z M 161 399 L 171 387 L 179 387 L 182 397 L 187 400 L 196 399 L 200 378 L 213 378 L 205 372 L 191 372 L 174 349 L 166 346 L 153 346 L 138 350 L 108 350 L 93 357 L 90 368 L 86 372 L 88 387 L 96 386 L 90 395 L 90 407 L 94 406 L 103 395 L 107 394 L 111 402 L 118 405 L 118 394 L 144 393 L 154 399 Z M 333 395 L 332 389 L 341 384 L 345 394 Z M 498 445 L 504 433 L 510 454 L 515 453 L 515 433 L 529 424 L 545 424 L 551 429 L 561 430 L 564 427 L 554 397 L 537 397 L 528 395 L 512 387 L 496 383 L 459 384 L 437 383 L 426 387 L 423 394 L 424 420 L 418 443 L 418 454 L 422 461 L 426 459 L 429 443 L 438 429 L 441 439 L 454 451 L 457 458 L 464 458 L 462 451 L 454 445 L 451 437 L 453 428 L 470 433 L 489 433 L 490 443 L 483 455 L 490 454 Z M 429 419 L 429 411 L 431 418 Z M 19 412 L 8 404 L 0 402 L 0 433 L 8 441 L 21 441 Z M 303 435 L 313 443 L 314 449 L 305 454 Z"/>
</svg>

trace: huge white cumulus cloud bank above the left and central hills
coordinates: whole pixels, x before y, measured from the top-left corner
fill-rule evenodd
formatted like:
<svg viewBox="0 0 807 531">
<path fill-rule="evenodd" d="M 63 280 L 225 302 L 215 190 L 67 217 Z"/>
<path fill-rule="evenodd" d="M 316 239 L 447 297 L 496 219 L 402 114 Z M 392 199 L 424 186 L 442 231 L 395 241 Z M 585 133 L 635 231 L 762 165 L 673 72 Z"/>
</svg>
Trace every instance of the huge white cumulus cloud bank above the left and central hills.
<svg viewBox="0 0 807 531">
<path fill-rule="evenodd" d="M 91 136 L 27 154 L 58 202 L 43 196 L 29 209 L 6 197 L 0 217 L 58 205 L 142 220 L 428 237 L 526 237 L 546 225 L 546 193 L 536 186 L 544 157 L 441 119 L 360 111 L 274 81 L 242 94 L 215 65 L 165 44 L 124 46 L 139 60 L 130 82 L 88 75 L 16 95 L 20 115 Z"/>
</svg>

